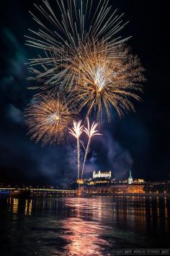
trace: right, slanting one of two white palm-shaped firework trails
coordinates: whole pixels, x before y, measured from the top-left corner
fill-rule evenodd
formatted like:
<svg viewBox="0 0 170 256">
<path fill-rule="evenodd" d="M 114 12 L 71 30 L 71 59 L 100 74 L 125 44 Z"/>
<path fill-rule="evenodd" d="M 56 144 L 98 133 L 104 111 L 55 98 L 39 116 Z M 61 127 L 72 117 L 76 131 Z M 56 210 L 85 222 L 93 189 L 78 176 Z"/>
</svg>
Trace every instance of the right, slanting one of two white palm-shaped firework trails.
<svg viewBox="0 0 170 256">
<path fill-rule="evenodd" d="M 89 125 L 89 118 L 87 119 L 87 128 L 84 128 L 84 133 L 86 133 L 86 135 L 88 136 L 88 143 L 87 143 L 87 146 L 86 146 L 86 152 L 85 152 L 85 155 L 84 155 L 84 163 L 83 163 L 83 167 L 82 167 L 82 171 L 81 171 L 81 180 L 83 179 L 83 175 L 84 175 L 84 167 L 85 167 L 85 164 L 86 164 L 86 157 L 87 157 L 87 154 L 89 152 L 89 146 L 90 146 L 90 142 L 91 142 L 91 138 L 94 137 L 94 136 L 98 136 L 98 135 L 102 135 L 101 133 L 97 133 L 98 131 L 96 130 L 97 128 L 97 125 L 98 123 L 92 123 L 91 127 Z"/>
</svg>

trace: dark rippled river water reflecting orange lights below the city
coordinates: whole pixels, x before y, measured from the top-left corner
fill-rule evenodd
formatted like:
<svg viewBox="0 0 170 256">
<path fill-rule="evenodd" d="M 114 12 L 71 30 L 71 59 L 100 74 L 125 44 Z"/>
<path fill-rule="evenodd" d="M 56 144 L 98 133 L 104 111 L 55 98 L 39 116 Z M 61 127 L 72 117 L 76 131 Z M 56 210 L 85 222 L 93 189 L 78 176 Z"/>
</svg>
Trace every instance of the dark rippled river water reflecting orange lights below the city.
<svg viewBox="0 0 170 256">
<path fill-rule="evenodd" d="M 167 197 L 0 198 L 0 255 L 112 255 L 169 248 Z"/>
</svg>

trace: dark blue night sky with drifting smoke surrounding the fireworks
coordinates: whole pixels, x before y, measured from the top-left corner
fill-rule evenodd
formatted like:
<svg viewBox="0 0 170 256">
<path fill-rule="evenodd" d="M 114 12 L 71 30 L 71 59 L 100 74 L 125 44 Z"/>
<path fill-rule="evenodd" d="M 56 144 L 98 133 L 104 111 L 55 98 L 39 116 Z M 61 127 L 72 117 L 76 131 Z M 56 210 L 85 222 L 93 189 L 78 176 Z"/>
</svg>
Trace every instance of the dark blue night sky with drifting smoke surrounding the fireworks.
<svg viewBox="0 0 170 256">
<path fill-rule="evenodd" d="M 49 0 L 50 1 L 50 0 Z M 28 28 L 34 28 L 29 10 L 34 1 L 1 1 L 0 66 L 0 183 L 66 184 L 76 177 L 73 141 L 45 146 L 26 135 L 23 110 L 32 94 L 27 87 L 27 58 L 34 50 L 24 45 Z M 35 1 L 36 2 L 36 1 Z M 95 2 L 95 1 L 94 1 Z M 97 2 L 97 1 L 96 1 Z M 116 178 L 146 180 L 169 178 L 169 6 L 168 1 L 110 0 L 130 23 L 122 36 L 146 69 L 143 102 L 136 112 L 112 124 L 91 144 L 87 176 L 93 169 L 112 169 Z"/>
</svg>

